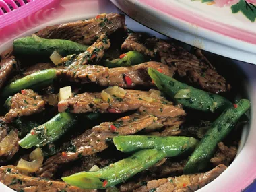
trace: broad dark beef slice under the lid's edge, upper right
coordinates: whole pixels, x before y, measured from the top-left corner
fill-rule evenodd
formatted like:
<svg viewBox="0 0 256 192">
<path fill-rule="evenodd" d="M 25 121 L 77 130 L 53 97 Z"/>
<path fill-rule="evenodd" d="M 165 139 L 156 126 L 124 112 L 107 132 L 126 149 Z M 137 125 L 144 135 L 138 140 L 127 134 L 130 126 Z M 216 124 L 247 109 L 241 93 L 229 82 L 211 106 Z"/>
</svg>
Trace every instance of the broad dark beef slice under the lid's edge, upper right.
<svg viewBox="0 0 256 192">
<path fill-rule="evenodd" d="M 197 51 L 199 59 L 180 46 L 165 42 L 158 38 L 149 38 L 148 46 L 153 46 L 158 51 L 161 61 L 170 65 L 180 77 L 185 77 L 203 90 L 218 94 L 230 90 L 230 84 L 218 74 L 216 69 L 205 57 Z"/>
</svg>

